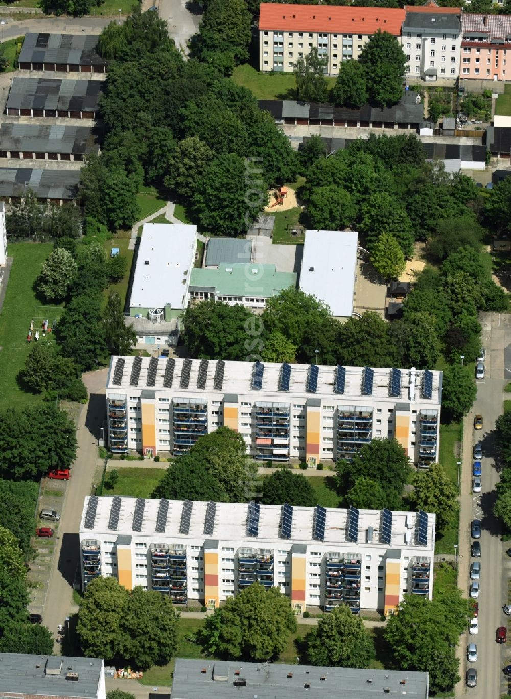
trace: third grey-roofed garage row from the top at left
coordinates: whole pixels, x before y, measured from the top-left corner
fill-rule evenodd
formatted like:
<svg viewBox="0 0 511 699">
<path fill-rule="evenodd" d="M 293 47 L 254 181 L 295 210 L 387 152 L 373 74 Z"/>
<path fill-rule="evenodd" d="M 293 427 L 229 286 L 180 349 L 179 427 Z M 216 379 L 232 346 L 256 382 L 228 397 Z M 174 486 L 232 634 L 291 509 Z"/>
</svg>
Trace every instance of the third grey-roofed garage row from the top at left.
<svg viewBox="0 0 511 699">
<path fill-rule="evenodd" d="M 32 153 L 99 152 L 91 127 L 68 127 L 62 124 L 0 124 L 0 150 Z"/>
</svg>

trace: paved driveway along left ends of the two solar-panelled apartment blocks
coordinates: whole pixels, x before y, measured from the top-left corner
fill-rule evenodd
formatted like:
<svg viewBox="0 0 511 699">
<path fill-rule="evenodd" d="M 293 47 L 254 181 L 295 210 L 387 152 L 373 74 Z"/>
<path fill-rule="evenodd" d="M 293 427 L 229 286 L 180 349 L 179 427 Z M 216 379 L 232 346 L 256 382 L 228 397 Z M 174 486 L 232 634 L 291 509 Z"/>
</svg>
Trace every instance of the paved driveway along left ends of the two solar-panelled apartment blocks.
<svg viewBox="0 0 511 699">
<path fill-rule="evenodd" d="M 80 565 L 78 531 L 85 496 L 92 492 L 98 456 L 99 428 L 105 416 L 104 394 L 107 373 L 108 369 L 101 369 L 83 375 L 83 381 L 89 391 L 89 402 L 82 406 L 78 421 L 77 457 L 73 463 L 71 480 L 62 504 L 59 532 L 55 540 L 55 555 L 43 611 L 43 624 L 55 634 L 57 626 L 63 623 L 71 611 L 73 581 L 78 575 Z M 55 652 L 59 652 L 57 644 L 55 644 Z"/>
</svg>

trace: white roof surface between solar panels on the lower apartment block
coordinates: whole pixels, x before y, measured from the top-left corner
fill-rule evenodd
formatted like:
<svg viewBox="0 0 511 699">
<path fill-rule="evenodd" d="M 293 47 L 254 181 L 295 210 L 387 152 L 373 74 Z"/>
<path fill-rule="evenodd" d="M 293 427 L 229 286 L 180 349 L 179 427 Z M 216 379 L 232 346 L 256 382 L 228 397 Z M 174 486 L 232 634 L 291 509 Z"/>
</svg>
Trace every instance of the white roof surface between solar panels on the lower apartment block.
<svg viewBox="0 0 511 699">
<path fill-rule="evenodd" d="M 143 500 L 143 517 L 140 531 L 134 529 L 134 514 L 137 503 L 137 498 L 121 497 L 120 498 L 120 514 L 117 521 L 117 527 L 110 529 L 110 510 L 113 505 L 112 496 L 101 496 L 96 498 L 96 513 L 94 516 L 94 524 L 92 528 L 85 527 L 87 517 L 87 509 L 89 506 L 90 497 L 85 498 L 85 503 L 82 511 L 82 520 L 80 522 L 80 535 L 82 539 L 94 538 L 96 536 L 110 536 L 115 534 L 127 534 L 133 536 L 151 536 L 155 541 L 158 537 L 162 540 L 167 540 L 170 536 L 175 543 L 185 543 L 190 539 L 220 539 L 223 541 L 245 541 L 246 546 L 251 545 L 254 548 L 264 545 L 265 543 L 282 542 L 284 539 L 280 535 L 280 521 L 282 518 L 281 505 L 260 505 L 259 521 L 257 528 L 257 536 L 249 536 L 247 534 L 247 503 L 217 503 L 215 512 L 215 522 L 213 526 L 213 534 L 205 536 L 204 526 L 206 523 L 206 512 L 208 503 L 194 501 L 192 503 L 192 514 L 190 517 L 189 532 L 182 534 L 180 532 L 180 522 L 183 506 L 183 500 L 170 500 L 168 503 L 168 512 L 165 519 L 165 531 L 157 532 L 157 518 L 159 505 L 161 500 L 145 499 Z M 313 544 L 313 526 L 315 507 L 294 507 L 291 527 L 290 543 Z M 380 530 L 382 512 L 380 510 L 359 510 L 359 519 L 357 527 L 358 541 L 353 542 L 348 539 L 348 510 L 336 510 L 330 507 L 325 509 L 325 531 L 324 542 L 330 544 L 336 551 L 336 546 L 342 546 L 358 549 L 361 545 L 371 547 L 382 546 L 387 549 L 390 547 L 417 547 L 417 555 L 428 549 L 433 549 L 435 546 L 435 526 L 436 517 L 434 514 L 428 514 L 425 528 L 427 535 L 427 545 L 419 545 L 417 540 L 416 523 L 417 512 L 392 512 L 391 524 L 391 540 L 389 543 L 380 543 L 378 541 L 378 531 Z M 366 530 L 368 527 L 373 527 L 375 532 L 372 541 L 366 540 Z M 406 543 L 407 532 L 409 532 L 410 542 Z"/>
</svg>

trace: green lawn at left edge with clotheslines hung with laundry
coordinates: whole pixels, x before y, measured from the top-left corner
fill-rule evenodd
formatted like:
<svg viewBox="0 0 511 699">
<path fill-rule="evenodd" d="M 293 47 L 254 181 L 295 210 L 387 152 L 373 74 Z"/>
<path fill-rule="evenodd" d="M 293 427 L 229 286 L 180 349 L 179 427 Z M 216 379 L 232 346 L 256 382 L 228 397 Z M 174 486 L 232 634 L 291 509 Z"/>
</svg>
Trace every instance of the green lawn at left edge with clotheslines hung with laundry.
<svg viewBox="0 0 511 699">
<path fill-rule="evenodd" d="M 41 305 L 32 290 L 32 284 L 52 249 L 51 243 L 8 244 L 8 255 L 14 261 L 0 313 L 0 408 L 38 400 L 38 396 L 20 389 L 16 377 L 30 351 L 27 333 L 31 320 L 34 319 L 35 331 L 41 329 L 45 318 L 51 322 L 62 314 L 62 306 Z M 52 335 L 47 335 L 41 337 L 40 342 L 52 342 L 52 338 Z"/>
</svg>

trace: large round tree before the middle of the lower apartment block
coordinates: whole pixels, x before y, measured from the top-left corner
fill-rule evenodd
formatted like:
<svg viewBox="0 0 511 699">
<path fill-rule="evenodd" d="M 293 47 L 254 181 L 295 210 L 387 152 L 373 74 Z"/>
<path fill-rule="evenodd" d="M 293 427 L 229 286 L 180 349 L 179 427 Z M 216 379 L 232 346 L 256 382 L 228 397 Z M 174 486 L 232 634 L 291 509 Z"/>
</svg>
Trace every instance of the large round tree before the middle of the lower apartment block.
<svg viewBox="0 0 511 699">
<path fill-rule="evenodd" d="M 261 662 L 278 658 L 295 630 L 289 598 L 277 587 L 266 591 L 255 582 L 206 617 L 201 635 L 211 654 Z"/>
</svg>

